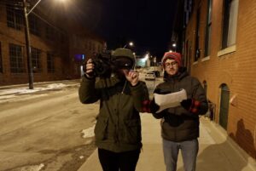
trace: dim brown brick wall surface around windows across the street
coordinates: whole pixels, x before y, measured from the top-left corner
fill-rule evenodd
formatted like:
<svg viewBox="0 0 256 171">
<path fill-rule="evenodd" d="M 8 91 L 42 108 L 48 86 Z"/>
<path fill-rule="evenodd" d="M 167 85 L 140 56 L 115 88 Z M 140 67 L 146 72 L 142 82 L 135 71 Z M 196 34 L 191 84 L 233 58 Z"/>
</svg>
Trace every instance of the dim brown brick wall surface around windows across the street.
<svg viewBox="0 0 256 171">
<path fill-rule="evenodd" d="M 40 17 L 44 15 L 41 13 L 39 14 Z M 58 17 L 56 17 L 55 19 L 47 19 L 47 16 L 43 16 L 43 18 L 44 20 L 38 20 L 40 36 L 38 37 L 30 34 L 31 47 L 38 48 L 41 51 L 40 62 L 42 70 L 33 73 L 34 82 L 79 78 L 80 63 L 74 61 L 74 55 L 84 54 L 84 49 L 73 49 L 73 42 L 70 41 L 70 37 L 72 37 L 72 35 L 76 34 L 77 32 L 82 32 L 81 34 L 86 35 L 84 37 L 79 37 L 79 42 L 81 42 L 79 43 L 79 45 L 81 46 L 85 39 L 87 39 L 88 37 L 93 37 L 95 35 L 92 35 L 91 33 L 88 34 L 84 31 L 84 28 L 79 28 L 79 31 L 73 30 L 73 26 L 78 26 L 78 24 L 72 23 L 70 26 L 68 26 L 69 22 L 65 22 L 65 26 L 61 26 L 61 24 L 64 22 L 58 22 Z M 49 40 L 46 37 L 46 26 L 49 26 L 55 31 L 52 40 Z M 63 28 L 65 30 L 62 30 L 60 28 Z M 61 39 L 60 35 L 62 35 L 64 39 Z M 103 44 L 100 38 L 90 39 L 95 42 L 94 44 L 96 44 L 96 46 L 98 44 Z M 0 43 L 3 66 L 3 72 L 0 72 L 0 86 L 18 83 L 28 83 L 24 26 L 21 26 L 20 31 L 7 26 L 6 8 L 3 3 L 0 4 Z M 9 43 L 14 43 L 15 45 L 19 45 L 22 47 L 22 60 L 25 68 L 25 71 L 22 73 L 12 73 L 10 71 Z M 47 71 L 48 52 L 53 53 L 54 56 L 55 71 L 52 73 Z M 88 54 L 88 52 L 85 52 L 85 54 Z"/>
</svg>

